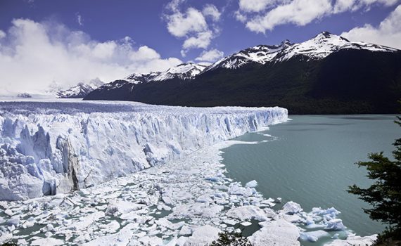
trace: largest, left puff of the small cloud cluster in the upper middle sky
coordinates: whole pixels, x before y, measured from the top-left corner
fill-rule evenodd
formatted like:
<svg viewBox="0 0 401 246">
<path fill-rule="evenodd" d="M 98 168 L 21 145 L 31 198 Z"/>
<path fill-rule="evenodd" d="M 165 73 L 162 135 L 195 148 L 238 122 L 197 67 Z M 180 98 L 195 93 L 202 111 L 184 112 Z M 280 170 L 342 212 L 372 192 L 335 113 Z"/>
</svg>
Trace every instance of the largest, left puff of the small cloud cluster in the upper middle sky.
<svg viewBox="0 0 401 246">
<path fill-rule="evenodd" d="M 186 13 L 175 12 L 167 15 L 167 30 L 174 37 L 185 37 L 193 32 L 208 29 L 205 17 L 195 8 L 188 8 Z"/>
</svg>

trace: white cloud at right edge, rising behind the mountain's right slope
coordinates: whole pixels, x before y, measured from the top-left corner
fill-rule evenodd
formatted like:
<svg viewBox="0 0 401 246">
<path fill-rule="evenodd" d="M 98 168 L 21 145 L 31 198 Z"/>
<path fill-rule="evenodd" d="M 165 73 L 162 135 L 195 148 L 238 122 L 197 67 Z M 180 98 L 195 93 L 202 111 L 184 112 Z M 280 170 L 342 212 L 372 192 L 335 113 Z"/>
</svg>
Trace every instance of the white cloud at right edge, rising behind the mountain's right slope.
<svg viewBox="0 0 401 246">
<path fill-rule="evenodd" d="M 355 27 L 341 36 L 351 41 L 366 41 L 401 49 L 401 5 L 384 19 L 378 27 Z"/>
</svg>

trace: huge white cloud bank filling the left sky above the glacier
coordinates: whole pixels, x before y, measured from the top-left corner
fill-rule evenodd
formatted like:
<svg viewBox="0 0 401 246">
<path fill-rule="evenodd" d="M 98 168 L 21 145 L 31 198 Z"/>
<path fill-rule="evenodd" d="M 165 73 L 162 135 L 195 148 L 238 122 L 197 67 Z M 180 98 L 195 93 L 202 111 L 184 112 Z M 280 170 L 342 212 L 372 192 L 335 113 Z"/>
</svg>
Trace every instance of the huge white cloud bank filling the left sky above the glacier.
<svg viewBox="0 0 401 246">
<path fill-rule="evenodd" d="M 98 77 L 104 82 L 132 72 L 167 70 L 182 63 L 160 58 L 148 46 L 134 48 L 129 37 L 99 42 L 61 24 L 15 19 L 0 39 L 0 94 L 43 93 Z M 1 34 L 0 34 L 1 35 Z"/>
</svg>

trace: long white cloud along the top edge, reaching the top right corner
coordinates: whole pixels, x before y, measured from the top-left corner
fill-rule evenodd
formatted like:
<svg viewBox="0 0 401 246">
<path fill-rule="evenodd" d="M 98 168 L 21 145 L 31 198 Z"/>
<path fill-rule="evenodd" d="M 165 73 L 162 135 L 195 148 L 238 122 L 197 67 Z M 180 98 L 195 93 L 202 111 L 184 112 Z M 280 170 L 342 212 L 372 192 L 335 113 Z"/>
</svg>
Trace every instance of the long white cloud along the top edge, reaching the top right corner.
<svg viewBox="0 0 401 246">
<path fill-rule="evenodd" d="M 307 25 L 326 15 L 369 10 L 373 5 L 393 6 L 399 0 L 238 0 L 238 21 L 248 30 L 265 33 L 278 25 Z"/>
</svg>

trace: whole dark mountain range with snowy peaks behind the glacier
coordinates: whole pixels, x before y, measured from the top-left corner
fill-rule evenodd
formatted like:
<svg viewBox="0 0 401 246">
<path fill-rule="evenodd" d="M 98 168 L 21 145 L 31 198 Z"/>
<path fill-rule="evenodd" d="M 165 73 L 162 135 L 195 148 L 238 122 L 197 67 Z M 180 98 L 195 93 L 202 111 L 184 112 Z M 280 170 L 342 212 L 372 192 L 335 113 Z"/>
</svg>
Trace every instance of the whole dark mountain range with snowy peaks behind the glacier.
<svg viewBox="0 0 401 246">
<path fill-rule="evenodd" d="M 274 106 L 292 114 L 395 113 L 401 51 L 329 32 L 246 48 L 212 65 L 184 63 L 104 84 L 84 100 L 183 106 Z"/>
</svg>

